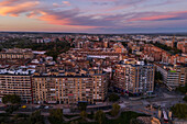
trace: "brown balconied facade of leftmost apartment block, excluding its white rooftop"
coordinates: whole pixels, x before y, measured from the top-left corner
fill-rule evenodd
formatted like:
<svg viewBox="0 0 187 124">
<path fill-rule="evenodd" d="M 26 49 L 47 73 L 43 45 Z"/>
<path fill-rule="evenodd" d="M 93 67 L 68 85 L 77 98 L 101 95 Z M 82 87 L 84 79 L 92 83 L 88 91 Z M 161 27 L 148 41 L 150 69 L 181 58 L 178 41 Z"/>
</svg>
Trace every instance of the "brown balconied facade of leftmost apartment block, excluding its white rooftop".
<svg viewBox="0 0 187 124">
<path fill-rule="evenodd" d="M 16 94 L 32 103 L 31 77 L 29 75 L 0 75 L 0 101 L 3 95 Z"/>
</svg>

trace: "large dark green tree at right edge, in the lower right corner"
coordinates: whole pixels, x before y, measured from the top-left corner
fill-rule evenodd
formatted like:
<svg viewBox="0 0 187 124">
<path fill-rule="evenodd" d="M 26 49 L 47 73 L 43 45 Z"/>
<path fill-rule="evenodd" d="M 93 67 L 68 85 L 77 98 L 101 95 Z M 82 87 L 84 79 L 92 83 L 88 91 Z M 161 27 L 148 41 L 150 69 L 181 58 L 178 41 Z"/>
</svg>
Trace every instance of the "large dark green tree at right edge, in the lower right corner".
<svg viewBox="0 0 187 124">
<path fill-rule="evenodd" d="M 178 119 L 187 119 L 187 104 L 175 104 L 170 108 L 174 115 Z"/>
</svg>

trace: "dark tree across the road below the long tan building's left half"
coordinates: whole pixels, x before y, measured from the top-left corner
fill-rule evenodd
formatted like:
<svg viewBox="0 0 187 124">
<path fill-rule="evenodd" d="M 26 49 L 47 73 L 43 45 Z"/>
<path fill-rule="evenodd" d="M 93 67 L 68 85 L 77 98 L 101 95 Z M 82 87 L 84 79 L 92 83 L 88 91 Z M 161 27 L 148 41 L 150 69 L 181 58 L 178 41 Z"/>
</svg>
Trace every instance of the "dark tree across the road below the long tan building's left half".
<svg viewBox="0 0 187 124">
<path fill-rule="evenodd" d="M 50 110 L 50 116 L 61 121 L 63 120 L 63 110 L 62 109 Z"/>
</svg>

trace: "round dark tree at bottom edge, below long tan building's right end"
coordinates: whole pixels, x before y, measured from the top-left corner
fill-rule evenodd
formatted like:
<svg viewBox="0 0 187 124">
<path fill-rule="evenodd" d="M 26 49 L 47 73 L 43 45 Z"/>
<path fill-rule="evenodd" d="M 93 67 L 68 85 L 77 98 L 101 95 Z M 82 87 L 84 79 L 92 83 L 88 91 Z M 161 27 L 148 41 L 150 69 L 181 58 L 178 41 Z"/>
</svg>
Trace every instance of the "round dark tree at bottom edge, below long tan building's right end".
<svg viewBox="0 0 187 124">
<path fill-rule="evenodd" d="M 101 110 L 97 111 L 96 114 L 95 114 L 95 120 L 96 120 L 99 124 L 105 124 L 106 114 L 103 113 L 103 111 L 101 111 Z"/>
</svg>

